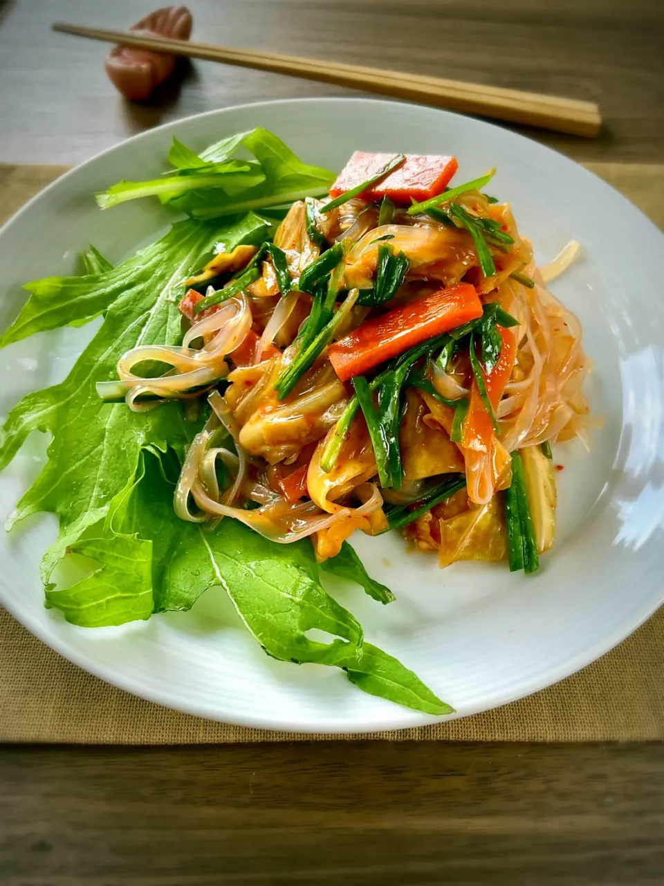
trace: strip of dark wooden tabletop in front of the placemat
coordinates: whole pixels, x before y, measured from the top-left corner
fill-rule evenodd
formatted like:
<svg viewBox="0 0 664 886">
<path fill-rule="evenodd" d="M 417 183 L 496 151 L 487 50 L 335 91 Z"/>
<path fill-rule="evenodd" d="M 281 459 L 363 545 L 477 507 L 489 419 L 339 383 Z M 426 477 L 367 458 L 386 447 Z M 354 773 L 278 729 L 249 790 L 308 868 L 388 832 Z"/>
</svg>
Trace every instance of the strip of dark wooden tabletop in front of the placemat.
<svg viewBox="0 0 664 886">
<path fill-rule="evenodd" d="M 0 751 L 4 886 L 660 883 L 662 745 Z"/>
</svg>

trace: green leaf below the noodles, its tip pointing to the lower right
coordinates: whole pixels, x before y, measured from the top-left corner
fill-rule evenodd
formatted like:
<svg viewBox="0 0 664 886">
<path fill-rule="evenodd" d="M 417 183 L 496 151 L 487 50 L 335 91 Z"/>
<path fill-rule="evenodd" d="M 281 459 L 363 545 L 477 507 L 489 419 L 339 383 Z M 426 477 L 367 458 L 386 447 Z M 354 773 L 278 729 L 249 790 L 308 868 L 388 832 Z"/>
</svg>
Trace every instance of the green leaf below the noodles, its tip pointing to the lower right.
<svg viewBox="0 0 664 886">
<path fill-rule="evenodd" d="M 97 560 L 97 570 L 48 591 L 51 606 L 77 625 L 113 625 L 149 618 L 151 610 L 189 609 L 207 588 L 221 586 L 269 656 L 335 666 L 371 695 L 430 714 L 452 712 L 398 659 L 364 641 L 357 619 L 321 587 L 308 541 L 277 545 L 228 518 L 212 531 L 178 520 L 162 461 L 168 457 L 143 450 L 135 482 L 112 502 L 102 532 L 72 548 Z M 357 560 L 354 552 L 346 556 Z M 313 629 L 331 639 L 313 639 Z"/>
</svg>

